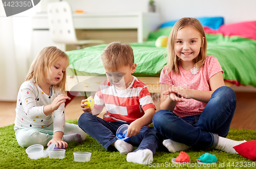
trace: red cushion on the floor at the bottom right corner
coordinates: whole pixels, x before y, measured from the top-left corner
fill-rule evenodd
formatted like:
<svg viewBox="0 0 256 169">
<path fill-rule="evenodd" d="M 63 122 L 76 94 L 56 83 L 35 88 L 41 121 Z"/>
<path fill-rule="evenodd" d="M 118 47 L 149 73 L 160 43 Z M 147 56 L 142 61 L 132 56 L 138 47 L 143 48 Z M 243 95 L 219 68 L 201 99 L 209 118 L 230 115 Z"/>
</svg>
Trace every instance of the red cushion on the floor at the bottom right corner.
<svg viewBox="0 0 256 169">
<path fill-rule="evenodd" d="M 233 148 L 241 156 L 256 161 L 256 140 L 244 142 Z"/>
</svg>

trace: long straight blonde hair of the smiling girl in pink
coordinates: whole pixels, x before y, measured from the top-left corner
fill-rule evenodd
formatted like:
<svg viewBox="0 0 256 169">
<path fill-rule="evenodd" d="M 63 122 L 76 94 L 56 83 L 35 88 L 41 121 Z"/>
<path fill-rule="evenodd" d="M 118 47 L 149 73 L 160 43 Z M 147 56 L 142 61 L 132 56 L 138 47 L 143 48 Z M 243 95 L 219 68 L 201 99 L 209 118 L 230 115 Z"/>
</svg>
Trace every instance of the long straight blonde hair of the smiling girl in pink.
<svg viewBox="0 0 256 169">
<path fill-rule="evenodd" d="M 168 42 L 167 42 L 168 61 L 166 65 L 167 67 L 166 74 L 169 74 L 170 71 L 174 71 L 175 74 L 180 75 L 179 58 L 175 53 L 175 42 L 176 42 L 178 31 L 185 27 L 192 27 L 200 33 L 203 46 L 200 49 L 199 55 L 194 59 L 194 63 L 195 63 L 195 67 L 197 67 L 198 69 L 200 69 L 204 65 L 204 62 L 206 60 L 206 48 L 207 48 L 204 28 L 198 19 L 185 17 L 178 20 L 175 23 L 172 31 L 170 32 Z M 204 37 L 204 41 L 203 41 L 203 37 Z"/>
</svg>

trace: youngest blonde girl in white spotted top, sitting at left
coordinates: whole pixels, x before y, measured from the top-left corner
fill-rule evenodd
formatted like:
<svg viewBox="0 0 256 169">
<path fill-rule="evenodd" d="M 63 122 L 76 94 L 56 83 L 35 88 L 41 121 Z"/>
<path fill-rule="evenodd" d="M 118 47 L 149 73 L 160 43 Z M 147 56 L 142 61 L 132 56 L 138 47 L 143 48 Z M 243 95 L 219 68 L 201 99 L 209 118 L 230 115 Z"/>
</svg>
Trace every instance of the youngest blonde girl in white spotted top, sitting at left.
<svg viewBox="0 0 256 169">
<path fill-rule="evenodd" d="M 65 123 L 65 92 L 68 55 L 49 46 L 42 49 L 30 66 L 17 96 L 15 135 L 18 144 L 66 148 L 67 142 L 81 142 L 87 134 L 77 125 Z"/>
</svg>

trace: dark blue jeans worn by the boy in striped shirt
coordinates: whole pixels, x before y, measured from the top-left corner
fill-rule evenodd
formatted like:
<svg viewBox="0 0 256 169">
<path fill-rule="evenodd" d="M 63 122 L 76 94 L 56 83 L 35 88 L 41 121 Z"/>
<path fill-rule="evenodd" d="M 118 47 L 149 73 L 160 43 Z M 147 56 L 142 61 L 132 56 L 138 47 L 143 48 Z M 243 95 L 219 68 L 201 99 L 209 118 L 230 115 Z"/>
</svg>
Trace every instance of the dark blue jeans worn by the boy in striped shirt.
<svg viewBox="0 0 256 169">
<path fill-rule="evenodd" d="M 88 112 L 83 113 L 78 119 L 78 126 L 91 137 L 96 139 L 103 148 L 111 150 L 110 146 L 113 142 L 118 140 L 116 137 L 116 131 L 119 126 L 125 122 L 107 122 L 100 117 L 92 115 Z M 158 149 L 162 136 L 156 132 L 153 127 L 142 127 L 139 134 L 131 137 L 128 143 L 132 146 L 138 147 L 134 152 L 138 150 L 150 149 L 155 154 Z"/>
</svg>

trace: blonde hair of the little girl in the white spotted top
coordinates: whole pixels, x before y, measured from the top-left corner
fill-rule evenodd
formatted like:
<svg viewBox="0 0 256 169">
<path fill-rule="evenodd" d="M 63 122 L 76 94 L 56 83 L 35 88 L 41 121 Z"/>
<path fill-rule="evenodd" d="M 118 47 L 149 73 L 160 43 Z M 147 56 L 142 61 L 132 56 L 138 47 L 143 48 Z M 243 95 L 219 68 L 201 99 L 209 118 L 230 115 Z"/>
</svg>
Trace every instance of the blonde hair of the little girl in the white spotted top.
<svg viewBox="0 0 256 169">
<path fill-rule="evenodd" d="M 32 62 L 26 81 L 32 80 L 38 86 L 46 81 L 49 81 L 49 73 L 52 65 L 54 65 L 61 58 L 67 59 L 68 66 L 69 56 L 65 52 L 57 49 L 55 46 L 45 47 L 37 54 L 36 58 Z M 61 90 L 63 93 L 66 93 L 65 84 L 66 71 L 63 73 L 62 80 L 58 84 L 53 85 L 53 87 L 54 89 Z"/>
</svg>

